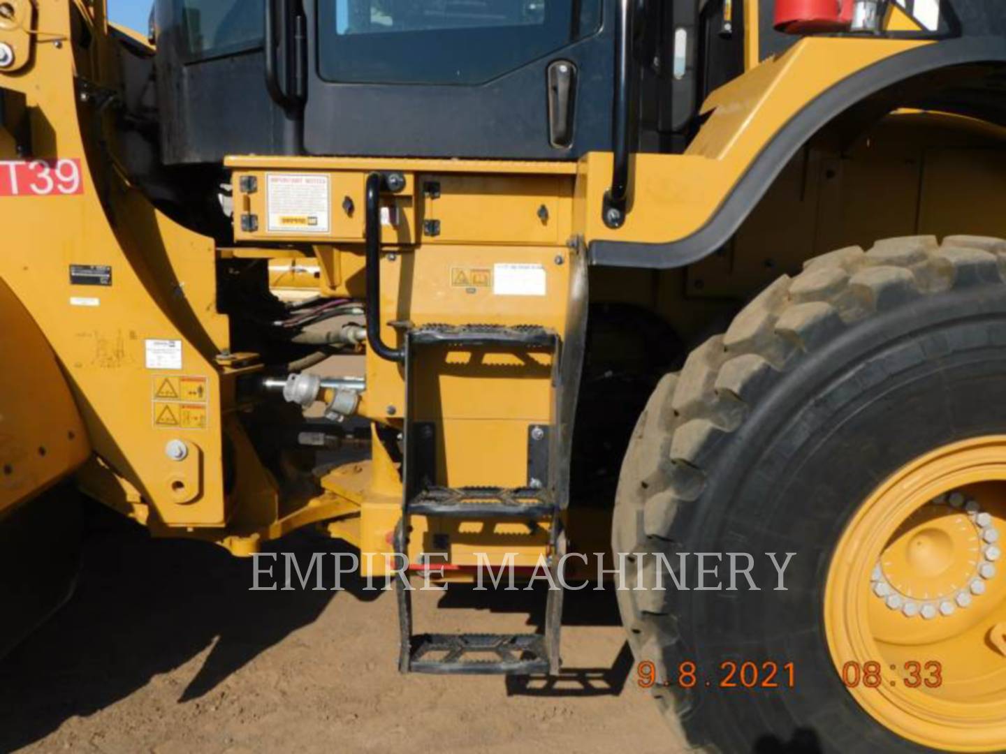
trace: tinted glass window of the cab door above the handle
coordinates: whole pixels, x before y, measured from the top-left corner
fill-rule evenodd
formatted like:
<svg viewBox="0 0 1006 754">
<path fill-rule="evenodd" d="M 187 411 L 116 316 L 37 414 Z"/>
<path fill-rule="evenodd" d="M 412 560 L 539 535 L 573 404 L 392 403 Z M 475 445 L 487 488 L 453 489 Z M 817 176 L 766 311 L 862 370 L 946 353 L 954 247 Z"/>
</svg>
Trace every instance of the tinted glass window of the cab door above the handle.
<svg viewBox="0 0 1006 754">
<path fill-rule="evenodd" d="M 323 78 L 482 83 L 598 30 L 601 0 L 319 0 Z"/>
</svg>

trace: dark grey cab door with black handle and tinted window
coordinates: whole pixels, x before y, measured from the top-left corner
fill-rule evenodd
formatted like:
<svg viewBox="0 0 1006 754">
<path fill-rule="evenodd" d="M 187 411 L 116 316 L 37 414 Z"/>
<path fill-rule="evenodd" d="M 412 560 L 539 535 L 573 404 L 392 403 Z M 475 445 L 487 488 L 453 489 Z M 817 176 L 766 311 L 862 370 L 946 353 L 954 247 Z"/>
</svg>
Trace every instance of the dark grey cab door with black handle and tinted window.
<svg viewBox="0 0 1006 754">
<path fill-rule="evenodd" d="M 495 159 L 608 150 L 609 3 L 306 1 L 304 149 Z"/>
</svg>

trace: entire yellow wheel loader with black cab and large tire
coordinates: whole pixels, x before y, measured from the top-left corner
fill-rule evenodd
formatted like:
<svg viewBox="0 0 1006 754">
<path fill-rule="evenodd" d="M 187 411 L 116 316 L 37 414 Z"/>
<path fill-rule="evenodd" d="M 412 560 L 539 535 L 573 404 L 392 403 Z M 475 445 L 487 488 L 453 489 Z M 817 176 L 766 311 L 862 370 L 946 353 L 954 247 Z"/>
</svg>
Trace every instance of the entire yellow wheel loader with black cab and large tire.
<svg viewBox="0 0 1006 754">
<path fill-rule="evenodd" d="M 994 0 L 0 0 L 0 648 L 82 494 L 378 556 L 402 673 L 605 553 L 689 747 L 1001 751 L 1004 199 Z"/>
</svg>

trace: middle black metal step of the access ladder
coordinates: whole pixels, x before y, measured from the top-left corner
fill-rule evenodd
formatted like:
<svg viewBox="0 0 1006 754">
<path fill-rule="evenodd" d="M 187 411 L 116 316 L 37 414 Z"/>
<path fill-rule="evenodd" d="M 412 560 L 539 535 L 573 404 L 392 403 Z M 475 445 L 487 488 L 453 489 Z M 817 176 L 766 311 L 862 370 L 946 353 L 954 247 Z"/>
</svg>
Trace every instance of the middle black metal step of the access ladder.
<svg viewBox="0 0 1006 754">
<path fill-rule="evenodd" d="M 555 502 L 547 491 L 531 488 L 435 487 L 413 498 L 407 512 L 410 516 L 540 520 L 552 517 Z"/>
</svg>

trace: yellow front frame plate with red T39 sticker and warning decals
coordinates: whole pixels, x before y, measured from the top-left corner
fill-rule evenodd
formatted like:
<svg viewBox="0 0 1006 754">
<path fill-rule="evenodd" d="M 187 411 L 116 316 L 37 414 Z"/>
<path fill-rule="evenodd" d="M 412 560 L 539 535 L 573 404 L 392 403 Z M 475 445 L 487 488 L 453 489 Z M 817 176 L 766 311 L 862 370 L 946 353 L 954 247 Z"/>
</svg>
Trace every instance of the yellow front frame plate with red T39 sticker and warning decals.
<svg viewBox="0 0 1006 754">
<path fill-rule="evenodd" d="M 39 3 L 38 27 L 70 37 L 71 7 Z M 39 44 L 30 75 L 0 71 L 0 86 L 24 93 L 32 109 L 31 159 L 48 161 L 19 168 L 18 155 L 0 153 L 8 170 L 32 171 L 20 192 L 0 197 L 0 277 L 65 370 L 95 452 L 159 522 L 219 527 L 229 514 L 224 430 L 238 454 L 242 445 L 214 360 L 229 343 L 227 321 L 216 312 L 213 242 L 157 212 L 123 184 L 101 140 L 90 131 L 85 138 L 94 110 L 77 97 L 74 65 L 83 59 L 73 55 L 70 44 Z M 59 166 L 71 171 L 71 186 L 49 190 Z M 74 280 L 80 267 L 104 270 L 105 281 Z M 16 361 L 5 369 L 10 364 Z M 197 399 L 171 395 L 162 390 L 165 378 L 188 378 L 202 390 Z M 36 381 L 33 408 L 46 400 Z M 167 454 L 172 442 L 184 444 L 183 460 Z"/>
</svg>

